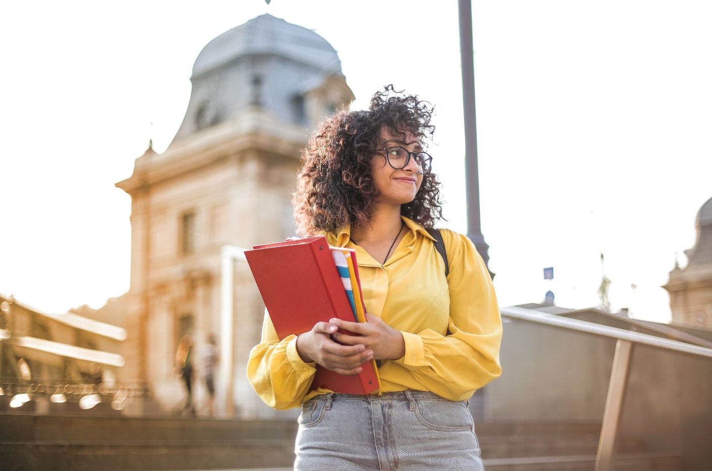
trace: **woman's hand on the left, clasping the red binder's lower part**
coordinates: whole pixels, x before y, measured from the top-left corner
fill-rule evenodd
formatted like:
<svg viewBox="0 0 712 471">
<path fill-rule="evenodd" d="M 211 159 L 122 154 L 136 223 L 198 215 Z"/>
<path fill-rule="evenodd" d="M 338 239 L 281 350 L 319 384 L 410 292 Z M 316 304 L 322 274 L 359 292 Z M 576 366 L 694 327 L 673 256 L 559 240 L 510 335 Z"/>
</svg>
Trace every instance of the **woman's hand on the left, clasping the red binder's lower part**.
<svg viewBox="0 0 712 471">
<path fill-rule="evenodd" d="M 333 322 L 317 322 L 309 332 L 297 337 L 297 353 L 305 363 L 315 361 L 340 374 L 359 374 L 361 365 L 373 359 L 373 351 L 360 342 L 337 344 L 331 339 L 336 329 Z"/>
</svg>

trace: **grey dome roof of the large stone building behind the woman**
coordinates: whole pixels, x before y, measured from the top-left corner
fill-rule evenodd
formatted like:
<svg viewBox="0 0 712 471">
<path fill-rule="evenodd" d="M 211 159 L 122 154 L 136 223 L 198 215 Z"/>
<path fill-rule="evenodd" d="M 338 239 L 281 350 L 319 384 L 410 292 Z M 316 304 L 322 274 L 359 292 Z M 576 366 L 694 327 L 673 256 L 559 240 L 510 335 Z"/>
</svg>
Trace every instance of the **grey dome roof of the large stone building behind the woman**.
<svg viewBox="0 0 712 471">
<path fill-rule="evenodd" d="M 170 147 L 254 108 L 301 131 L 352 100 L 334 48 L 268 14 L 210 41 L 191 81 L 188 109 Z"/>
</svg>

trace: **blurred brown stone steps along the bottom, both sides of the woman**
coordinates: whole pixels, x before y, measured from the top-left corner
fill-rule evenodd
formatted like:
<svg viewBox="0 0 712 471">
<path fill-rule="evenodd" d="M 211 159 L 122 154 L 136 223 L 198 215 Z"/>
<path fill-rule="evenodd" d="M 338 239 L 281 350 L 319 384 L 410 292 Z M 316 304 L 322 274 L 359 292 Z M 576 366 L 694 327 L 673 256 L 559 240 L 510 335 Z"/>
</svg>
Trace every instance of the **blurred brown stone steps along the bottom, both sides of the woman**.
<svg viewBox="0 0 712 471">
<path fill-rule="evenodd" d="M 481 422 L 488 471 L 592 471 L 600 423 Z M 0 468 L 56 471 L 290 470 L 293 420 L 0 412 Z M 617 471 L 683 471 L 679 456 L 619 444 Z"/>
</svg>

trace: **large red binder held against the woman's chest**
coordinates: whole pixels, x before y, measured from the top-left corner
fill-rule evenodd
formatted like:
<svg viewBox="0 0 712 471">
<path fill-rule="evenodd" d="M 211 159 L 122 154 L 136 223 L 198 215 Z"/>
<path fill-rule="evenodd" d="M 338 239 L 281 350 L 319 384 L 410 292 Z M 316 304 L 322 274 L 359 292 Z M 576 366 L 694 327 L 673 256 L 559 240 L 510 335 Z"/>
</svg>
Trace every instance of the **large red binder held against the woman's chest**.
<svg viewBox="0 0 712 471">
<path fill-rule="evenodd" d="M 353 321 L 351 305 L 323 235 L 255 245 L 245 257 L 279 339 L 301 334 L 332 317 Z M 317 365 L 312 389 L 368 394 L 379 388 L 375 361 L 357 375 Z"/>
</svg>

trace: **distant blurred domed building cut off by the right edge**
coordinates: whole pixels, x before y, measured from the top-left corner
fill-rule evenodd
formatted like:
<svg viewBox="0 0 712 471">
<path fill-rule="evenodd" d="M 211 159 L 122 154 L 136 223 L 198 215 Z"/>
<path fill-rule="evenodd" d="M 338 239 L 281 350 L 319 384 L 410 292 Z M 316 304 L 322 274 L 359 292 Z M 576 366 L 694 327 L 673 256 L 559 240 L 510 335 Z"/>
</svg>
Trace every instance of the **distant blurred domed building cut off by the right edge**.
<svg viewBox="0 0 712 471">
<path fill-rule="evenodd" d="M 676 266 L 664 288 L 674 322 L 712 328 L 712 198 L 697 213 L 696 228 L 695 246 L 685 250 L 687 266 Z"/>
</svg>

